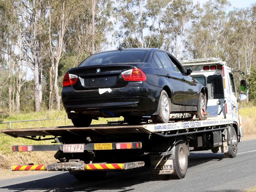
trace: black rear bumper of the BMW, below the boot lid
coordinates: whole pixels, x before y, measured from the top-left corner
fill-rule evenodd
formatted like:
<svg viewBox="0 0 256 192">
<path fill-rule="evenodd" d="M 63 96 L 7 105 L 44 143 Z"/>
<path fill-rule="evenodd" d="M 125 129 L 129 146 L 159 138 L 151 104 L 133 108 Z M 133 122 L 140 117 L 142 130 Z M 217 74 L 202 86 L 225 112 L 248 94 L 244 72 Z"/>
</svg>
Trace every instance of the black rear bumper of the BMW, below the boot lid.
<svg viewBox="0 0 256 192">
<path fill-rule="evenodd" d="M 151 115 L 158 107 L 161 88 L 143 83 L 143 86 L 129 83 L 126 87 L 99 93 L 95 90 L 77 91 L 72 86 L 63 87 L 62 101 L 66 112 L 83 113 L 95 117 L 131 115 Z M 146 85 L 145 85 L 146 84 Z M 72 116 L 69 116 L 72 118 Z"/>
</svg>

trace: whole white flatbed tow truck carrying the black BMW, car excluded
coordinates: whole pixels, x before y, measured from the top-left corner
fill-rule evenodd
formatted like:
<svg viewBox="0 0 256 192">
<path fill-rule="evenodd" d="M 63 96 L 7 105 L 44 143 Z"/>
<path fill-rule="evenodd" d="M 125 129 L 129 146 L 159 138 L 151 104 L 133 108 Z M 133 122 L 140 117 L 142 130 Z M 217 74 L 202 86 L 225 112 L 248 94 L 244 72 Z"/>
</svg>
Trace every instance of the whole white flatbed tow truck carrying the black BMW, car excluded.
<svg viewBox="0 0 256 192">
<path fill-rule="evenodd" d="M 41 127 L 7 129 L 2 133 L 35 141 L 52 140 L 50 145 L 13 146 L 18 151 L 56 151 L 53 164 L 13 165 L 13 171 L 69 171 L 76 179 L 104 177 L 108 171 L 151 166 L 154 175 L 185 177 L 190 151 L 211 150 L 226 157 L 236 157 L 243 131 L 231 68 L 219 58 L 180 61 L 191 67 L 191 76 L 208 88 L 206 119 L 189 114 L 172 114 L 165 124 L 143 123 L 129 126 L 125 122 L 90 127 Z"/>
</svg>

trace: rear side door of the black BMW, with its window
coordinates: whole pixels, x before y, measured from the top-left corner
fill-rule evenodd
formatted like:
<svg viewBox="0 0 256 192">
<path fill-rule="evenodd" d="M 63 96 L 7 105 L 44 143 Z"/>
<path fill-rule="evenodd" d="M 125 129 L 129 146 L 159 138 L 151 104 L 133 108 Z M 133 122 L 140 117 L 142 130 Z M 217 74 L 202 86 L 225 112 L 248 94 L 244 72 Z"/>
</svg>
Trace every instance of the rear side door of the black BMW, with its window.
<svg viewBox="0 0 256 192">
<path fill-rule="evenodd" d="M 183 87 L 180 73 L 174 70 L 168 56 L 164 52 L 155 52 L 154 61 L 159 66 L 161 74 L 167 79 L 171 87 L 172 102 L 183 105 Z"/>
</svg>

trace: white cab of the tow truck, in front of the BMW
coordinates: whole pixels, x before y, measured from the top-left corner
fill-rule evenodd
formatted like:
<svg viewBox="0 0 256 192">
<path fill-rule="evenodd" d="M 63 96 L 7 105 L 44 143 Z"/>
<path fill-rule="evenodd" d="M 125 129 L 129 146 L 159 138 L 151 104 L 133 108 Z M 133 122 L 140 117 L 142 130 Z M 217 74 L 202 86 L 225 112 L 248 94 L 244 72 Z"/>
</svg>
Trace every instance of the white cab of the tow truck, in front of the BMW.
<svg viewBox="0 0 256 192">
<path fill-rule="evenodd" d="M 233 119 L 239 142 L 243 131 L 239 115 L 236 85 L 232 69 L 220 58 L 189 59 L 180 61 L 184 68 L 191 67 L 191 76 L 208 88 L 208 118 Z"/>
</svg>

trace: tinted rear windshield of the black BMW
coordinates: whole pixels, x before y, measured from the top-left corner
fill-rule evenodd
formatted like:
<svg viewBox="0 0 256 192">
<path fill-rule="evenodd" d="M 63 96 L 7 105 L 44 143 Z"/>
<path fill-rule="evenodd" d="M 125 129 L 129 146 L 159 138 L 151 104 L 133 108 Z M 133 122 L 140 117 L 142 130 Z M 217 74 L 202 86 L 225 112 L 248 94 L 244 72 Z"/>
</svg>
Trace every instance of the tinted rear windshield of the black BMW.
<svg viewBox="0 0 256 192">
<path fill-rule="evenodd" d="M 79 66 L 108 65 L 115 63 L 141 63 L 145 61 L 148 50 L 122 50 L 91 55 Z"/>
</svg>

